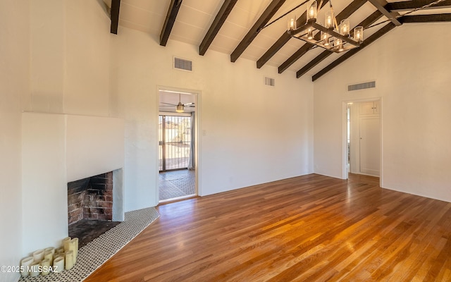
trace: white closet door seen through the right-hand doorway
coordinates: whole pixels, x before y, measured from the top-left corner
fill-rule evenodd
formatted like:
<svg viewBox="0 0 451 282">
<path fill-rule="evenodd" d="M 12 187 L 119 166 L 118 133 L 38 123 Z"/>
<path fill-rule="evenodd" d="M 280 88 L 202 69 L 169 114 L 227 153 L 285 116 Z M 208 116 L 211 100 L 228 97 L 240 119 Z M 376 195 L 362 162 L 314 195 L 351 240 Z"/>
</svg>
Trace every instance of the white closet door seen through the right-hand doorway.
<svg viewBox="0 0 451 282">
<path fill-rule="evenodd" d="M 379 176 L 379 118 L 360 118 L 360 172 Z"/>
</svg>

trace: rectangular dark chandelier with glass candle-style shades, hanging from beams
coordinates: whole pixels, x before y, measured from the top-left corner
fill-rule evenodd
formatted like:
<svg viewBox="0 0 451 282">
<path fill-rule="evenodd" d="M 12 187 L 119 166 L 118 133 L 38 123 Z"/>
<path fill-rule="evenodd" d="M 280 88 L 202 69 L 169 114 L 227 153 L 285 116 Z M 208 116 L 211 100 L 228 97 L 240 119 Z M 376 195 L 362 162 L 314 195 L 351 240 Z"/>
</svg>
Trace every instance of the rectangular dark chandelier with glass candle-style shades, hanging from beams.
<svg viewBox="0 0 451 282">
<path fill-rule="evenodd" d="M 307 2 L 305 1 L 303 4 Z M 351 32 L 350 20 L 348 19 L 342 20 L 340 25 L 338 25 L 330 0 L 329 6 L 330 11 L 326 12 L 324 25 L 321 25 L 321 23 L 316 23 L 316 12 L 318 8 L 316 1 L 307 4 L 307 23 L 297 27 L 296 16 L 289 17 L 288 34 L 296 39 L 301 39 L 336 53 L 359 47 L 364 41 L 364 27 L 355 27 L 354 32 Z M 319 40 L 315 38 L 314 33 L 317 34 L 316 31 L 321 32 Z"/>
</svg>

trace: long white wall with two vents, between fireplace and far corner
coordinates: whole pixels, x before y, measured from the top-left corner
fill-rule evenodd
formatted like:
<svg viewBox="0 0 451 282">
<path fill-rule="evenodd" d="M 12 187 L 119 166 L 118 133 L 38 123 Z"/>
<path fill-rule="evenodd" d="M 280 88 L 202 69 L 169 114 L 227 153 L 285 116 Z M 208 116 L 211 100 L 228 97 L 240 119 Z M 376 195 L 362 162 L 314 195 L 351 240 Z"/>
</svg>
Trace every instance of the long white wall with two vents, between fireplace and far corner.
<svg viewBox="0 0 451 282">
<path fill-rule="evenodd" d="M 227 54 L 120 27 L 112 40 L 111 91 L 125 118 L 127 210 L 156 198 L 157 88 L 199 91 L 200 193 L 209 195 L 311 173 L 312 83 L 277 74 L 254 61 L 230 63 Z M 192 73 L 172 68 L 173 56 L 194 62 Z M 276 87 L 264 85 L 264 76 Z M 140 195 L 140 197 L 136 197 Z"/>
</svg>

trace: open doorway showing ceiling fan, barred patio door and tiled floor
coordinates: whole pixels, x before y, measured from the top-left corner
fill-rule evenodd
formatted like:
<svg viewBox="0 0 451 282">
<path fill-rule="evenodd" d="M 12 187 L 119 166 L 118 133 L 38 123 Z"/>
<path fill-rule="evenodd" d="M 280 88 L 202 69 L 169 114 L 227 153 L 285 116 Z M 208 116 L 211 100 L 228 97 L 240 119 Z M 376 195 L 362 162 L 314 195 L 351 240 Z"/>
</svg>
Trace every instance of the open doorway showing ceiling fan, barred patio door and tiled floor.
<svg viewBox="0 0 451 282">
<path fill-rule="evenodd" d="M 159 90 L 159 202 L 197 196 L 197 93 Z"/>
</svg>

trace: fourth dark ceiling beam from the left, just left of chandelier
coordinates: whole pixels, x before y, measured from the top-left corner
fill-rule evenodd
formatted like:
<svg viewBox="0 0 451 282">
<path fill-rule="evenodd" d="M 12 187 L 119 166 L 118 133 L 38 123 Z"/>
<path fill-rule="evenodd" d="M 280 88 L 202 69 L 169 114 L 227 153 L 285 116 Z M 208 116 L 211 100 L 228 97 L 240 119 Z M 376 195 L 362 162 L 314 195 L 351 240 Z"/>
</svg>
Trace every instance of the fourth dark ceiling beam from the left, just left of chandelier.
<svg viewBox="0 0 451 282">
<path fill-rule="evenodd" d="M 247 32 L 247 35 L 245 38 L 243 38 L 238 44 L 238 46 L 233 50 L 232 54 L 230 54 L 230 61 L 235 62 L 242 54 L 242 52 L 245 51 L 245 49 L 251 44 L 252 40 L 254 40 L 255 37 L 259 34 L 261 28 L 263 28 L 266 23 L 268 23 L 269 20 L 274 16 L 274 14 L 278 11 L 280 6 L 285 3 L 285 0 L 273 0 L 271 1 L 271 4 L 266 7 L 266 10 L 261 14 L 260 18 L 257 20 L 256 23 L 251 27 L 249 32 Z"/>
</svg>

